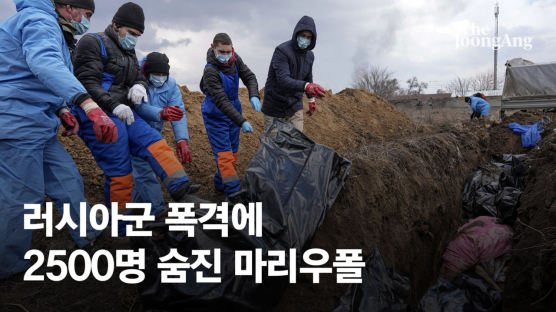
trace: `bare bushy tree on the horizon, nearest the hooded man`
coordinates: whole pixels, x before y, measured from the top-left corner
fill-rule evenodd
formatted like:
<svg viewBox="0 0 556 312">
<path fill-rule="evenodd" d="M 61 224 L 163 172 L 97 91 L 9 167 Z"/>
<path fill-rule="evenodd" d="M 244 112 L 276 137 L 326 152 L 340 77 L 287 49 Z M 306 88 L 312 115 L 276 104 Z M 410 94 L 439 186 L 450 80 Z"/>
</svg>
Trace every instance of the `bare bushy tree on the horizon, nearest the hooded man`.
<svg viewBox="0 0 556 312">
<path fill-rule="evenodd" d="M 359 67 L 353 77 L 353 87 L 365 89 L 383 98 L 390 98 L 400 89 L 398 79 L 392 77 L 386 67 L 365 65 Z"/>
</svg>

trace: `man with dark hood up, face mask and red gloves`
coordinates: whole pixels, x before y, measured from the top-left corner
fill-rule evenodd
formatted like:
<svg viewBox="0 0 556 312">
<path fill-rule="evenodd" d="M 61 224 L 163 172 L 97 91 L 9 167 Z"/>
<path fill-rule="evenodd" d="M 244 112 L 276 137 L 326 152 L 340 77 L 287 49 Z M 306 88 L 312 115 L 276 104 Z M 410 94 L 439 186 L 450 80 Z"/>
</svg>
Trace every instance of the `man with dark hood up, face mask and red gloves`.
<svg viewBox="0 0 556 312">
<path fill-rule="evenodd" d="M 288 40 L 274 50 L 264 89 L 264 128 L 275 119 L 289 122 L 303 131 L 303 93 L 309 98 L 309 116 L 316 110 L 315 98 L 326 95 L 313 83 L 313 49 L 317 43 L 315 21 L 303 16 Z"/>
</svg>

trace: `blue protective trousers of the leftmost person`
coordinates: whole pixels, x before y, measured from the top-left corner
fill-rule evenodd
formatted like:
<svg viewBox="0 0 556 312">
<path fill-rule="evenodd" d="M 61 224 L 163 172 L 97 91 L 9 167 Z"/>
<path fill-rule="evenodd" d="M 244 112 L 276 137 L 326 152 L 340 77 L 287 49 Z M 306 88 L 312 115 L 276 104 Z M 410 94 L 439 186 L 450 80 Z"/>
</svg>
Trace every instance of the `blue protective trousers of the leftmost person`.
<svg viewBox="0 0 556 312">
<path fill-rule="evenodd" d="M 24 230 L 23 216 L 32 211 L 24 210 L 25 204 L 42 204 L 46 195 L 61 214 L 68 203 L 71 218 L 79 225 L 79 205 L 87 200 L 81 175 L 55 136 L 40 145 L 0 140 L 0 185 L 0 279 L 4 279 L 30 265 L 24 255 L 33 231 Z M 100 234 L 88 222 L 86 238 L 79 237 L 79 228 L 69 232 L 79 247 Z"/>
</svg>

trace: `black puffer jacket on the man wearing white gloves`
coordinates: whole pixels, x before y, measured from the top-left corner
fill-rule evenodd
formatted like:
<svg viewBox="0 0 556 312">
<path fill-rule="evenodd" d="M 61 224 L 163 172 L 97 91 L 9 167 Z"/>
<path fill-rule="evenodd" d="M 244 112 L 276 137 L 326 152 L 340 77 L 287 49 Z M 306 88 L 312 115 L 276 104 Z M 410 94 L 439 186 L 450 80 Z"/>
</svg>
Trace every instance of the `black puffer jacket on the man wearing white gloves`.
<svg viewBox="0 0 556 312">
<path fill-rule="evenodd" d="M 104 111 L 112 113 L 119 104 L 133 107 L 127 99 L 129 89 L 135 84 L 141 84 L 148 90 L 135 50 L 122 48 L 112 25 L 108 25 L 103 33 L 97 35 L 104 42 L 107 59 L 102 57 L 101 44 L 97 37 L 91 34 L 83 36 L 73 55 L 75 76 Z M 108 91 L 103 87 L 106 79 L 110 80 Z"/>
</svg>

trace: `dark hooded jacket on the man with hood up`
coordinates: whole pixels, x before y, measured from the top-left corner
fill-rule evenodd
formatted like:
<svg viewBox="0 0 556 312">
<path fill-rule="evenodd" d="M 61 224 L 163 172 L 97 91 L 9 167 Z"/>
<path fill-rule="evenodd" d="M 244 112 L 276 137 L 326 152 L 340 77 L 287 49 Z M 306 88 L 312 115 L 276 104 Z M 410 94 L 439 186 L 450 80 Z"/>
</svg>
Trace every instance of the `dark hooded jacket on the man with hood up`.
<svg viewBox="0 0 556 312">
<path fill-rule="evenodd" d="M 305 50 L 297 45 L 297 35 L 308 30 L 313 33 L 311 44 Z M 293 31 L 292 39 L 274 50 L 270 62 L 262 111 L 277 118 L 293 116 L 303 109 L 305 84 L 313 82 L 313 49 L 317 42 L 317 29 L 313 18 L 303 16 Z"/>
</svg>

